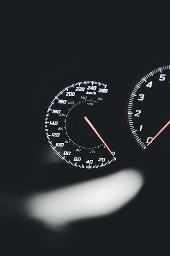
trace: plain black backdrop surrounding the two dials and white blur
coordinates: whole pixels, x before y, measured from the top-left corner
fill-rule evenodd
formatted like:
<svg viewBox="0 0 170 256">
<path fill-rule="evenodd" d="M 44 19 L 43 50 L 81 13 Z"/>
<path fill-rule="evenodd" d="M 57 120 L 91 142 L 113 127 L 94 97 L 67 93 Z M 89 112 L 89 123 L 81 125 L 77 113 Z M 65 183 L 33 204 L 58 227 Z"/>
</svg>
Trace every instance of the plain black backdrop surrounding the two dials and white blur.
<svg viewBox="0 0 170 256">
<path fill-rule="evenodd" d="M 2 208 L 2 255 L 168 254 L 168 157 L 148 157 L 123 126 L 135 78 L 154 61 L 170 56 L 168 15 L 155 9 L 139 13 L 139 7 L 130 12 L 130 6 L 100 6 L 99 10 L 90 5 L 87 11 L 82 5 L 74 13 L 66 6 L 53 11 L 51 6 L 46 12 L 40 6 L 11 6 L 4 19 L 2 195 L 14 198 L 13 205 L 15 198 L 32 191 L 104 175 L 102 168 L 89 174 L 65 163 L 58 164 L 56 173 L 55 164 L 40 164 L 36 155 L 37 147 L 45 146 L 42 106 L 54 81 L 65 83 L 65 79 L 92 75 L 93 71 L 95 77 L 113 78 L 121 91 L 117 99 L 121 132 L 131 145 L 131 154 L 124 152 L 122 161 L 113 163 L 113 169 L 105 173 L 138 167 L 146 175 L 146 184 L 136 199 L 116 214 L 74 223 L 61 231 L 50 231 Z M 41 152 L 38 154 L 41 159 Z"/>
</svg>

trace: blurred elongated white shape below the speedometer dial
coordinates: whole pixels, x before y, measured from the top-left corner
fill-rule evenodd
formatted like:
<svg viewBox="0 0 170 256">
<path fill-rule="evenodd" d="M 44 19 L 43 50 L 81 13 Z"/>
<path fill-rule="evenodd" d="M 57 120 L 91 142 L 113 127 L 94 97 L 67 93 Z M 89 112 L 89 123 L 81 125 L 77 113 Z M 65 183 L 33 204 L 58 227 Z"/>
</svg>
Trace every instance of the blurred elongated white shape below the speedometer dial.
<svg viewBox="0 0 170 256">
<path fill-rule="evenodd" d="M 32 195 L 26 203 L 29 217 L 51 227 L 113 213 L 138 193 L 143 175 L 122 170 L 91 181 Z"/>
</svg>

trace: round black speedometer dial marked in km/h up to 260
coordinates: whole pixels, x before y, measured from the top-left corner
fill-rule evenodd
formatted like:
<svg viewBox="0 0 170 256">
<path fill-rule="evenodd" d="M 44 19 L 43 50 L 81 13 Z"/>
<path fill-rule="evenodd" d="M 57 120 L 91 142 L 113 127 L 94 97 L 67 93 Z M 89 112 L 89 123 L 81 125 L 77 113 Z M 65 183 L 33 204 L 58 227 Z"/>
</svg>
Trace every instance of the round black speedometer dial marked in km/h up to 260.
<svg viewBox="0 0 170 256">
<path fill-rule="evenodd" d="M 48 105 L 47 143 L 69 165 L 91 169 L 116 160 L 107 115 L 108 93 L 107 84 L 82 81 L 63 88 Z"/>
</svg>

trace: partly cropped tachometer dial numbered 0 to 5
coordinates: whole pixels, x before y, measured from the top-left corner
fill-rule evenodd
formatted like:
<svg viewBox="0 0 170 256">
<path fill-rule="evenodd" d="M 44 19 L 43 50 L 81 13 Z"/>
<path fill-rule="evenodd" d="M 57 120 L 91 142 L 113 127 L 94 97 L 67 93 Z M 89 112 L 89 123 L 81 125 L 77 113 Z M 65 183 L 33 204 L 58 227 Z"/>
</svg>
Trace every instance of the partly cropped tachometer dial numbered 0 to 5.
<svg viewBox="0 0 170 256">
<path fill-rule="evenodd" d="M 126 118 L 145 152 L 170 153 L 170 65 L 145 73 L 129 95 Z"/>
</svg>

